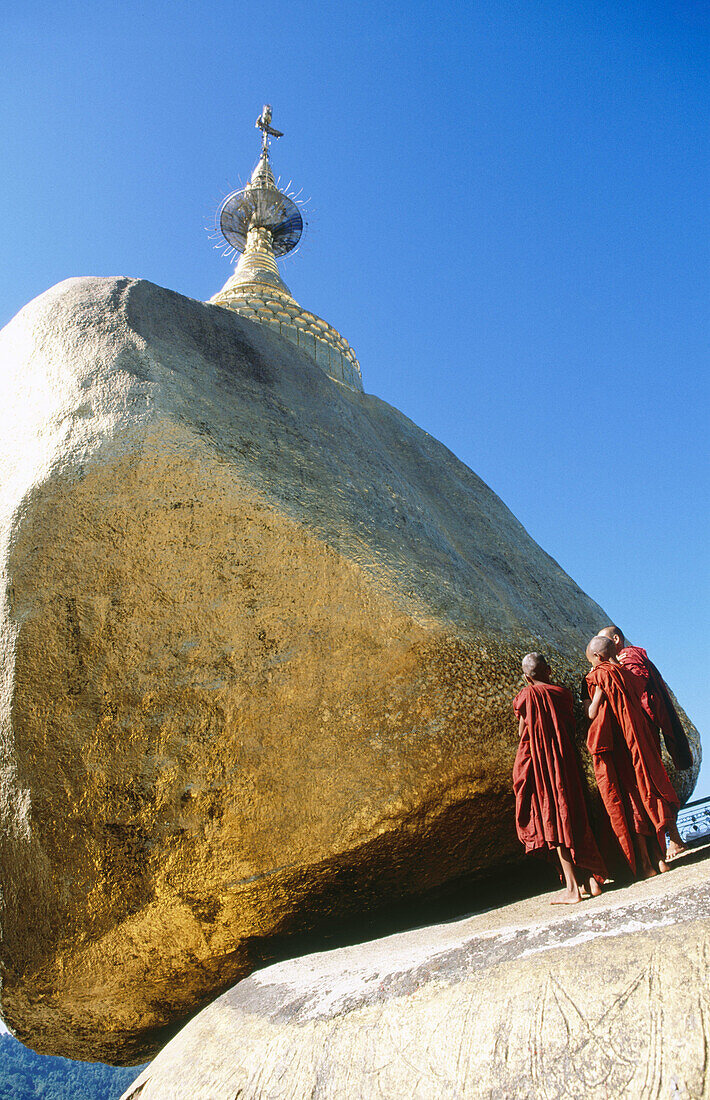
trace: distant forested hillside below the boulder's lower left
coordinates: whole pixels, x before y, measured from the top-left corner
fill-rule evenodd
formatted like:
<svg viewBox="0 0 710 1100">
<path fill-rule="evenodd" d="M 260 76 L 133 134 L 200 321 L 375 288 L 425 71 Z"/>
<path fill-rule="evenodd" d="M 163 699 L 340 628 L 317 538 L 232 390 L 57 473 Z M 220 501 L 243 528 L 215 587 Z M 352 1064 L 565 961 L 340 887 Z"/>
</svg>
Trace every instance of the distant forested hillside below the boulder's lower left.
<svg viewBox="0 0 710 1100">
<path fill-rule="evenodd" d="M 142 1068 L 52 1058 L 0 1035 L 0 1100 L 118 1100 Z"/>
</svg>

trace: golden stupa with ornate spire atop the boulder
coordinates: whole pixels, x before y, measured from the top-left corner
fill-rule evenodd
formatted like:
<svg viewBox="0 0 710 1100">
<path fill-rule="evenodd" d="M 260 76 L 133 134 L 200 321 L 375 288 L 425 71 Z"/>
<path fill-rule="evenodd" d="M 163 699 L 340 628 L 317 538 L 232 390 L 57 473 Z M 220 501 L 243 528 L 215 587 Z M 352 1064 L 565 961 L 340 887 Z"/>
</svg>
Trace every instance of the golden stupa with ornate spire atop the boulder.
<svg viewBox="0 0 710 1100">
<path fill-rule="evenodd" d="M 210 302 L 275 329 L 329 377 L 362 391 L 360 364 L 348 341 L 323 318 L 303 309 L 278 273 L 276 258 L 298 244 L 303 218 L 294 199 L 280 190 L 271 167 L 269 143 L 283 133 L 271 125 L 269 103 L 255 124 L 262 132 L 259 163 L 247 186 L 227 196 L 216 218 L 225 240 L 240 253 L 239 262 Z"/>
</svg>

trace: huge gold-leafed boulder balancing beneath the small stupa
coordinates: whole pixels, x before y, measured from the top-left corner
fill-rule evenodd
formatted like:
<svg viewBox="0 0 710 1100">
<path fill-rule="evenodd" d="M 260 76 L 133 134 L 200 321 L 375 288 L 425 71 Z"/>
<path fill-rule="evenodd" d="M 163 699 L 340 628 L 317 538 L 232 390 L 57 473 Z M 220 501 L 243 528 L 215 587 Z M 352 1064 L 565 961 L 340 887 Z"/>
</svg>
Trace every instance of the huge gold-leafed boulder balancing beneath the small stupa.
<svg viewBox="0 0 710 1100">
<path fill-rule="evenodd" d="M 145 282 L 61 284 L 0 355 L 20 1038 L 141 1060 L 274 937 L 520 856 L 521 653 L 574 685 L 607 616 L 476 474 Z"/>
</svg>

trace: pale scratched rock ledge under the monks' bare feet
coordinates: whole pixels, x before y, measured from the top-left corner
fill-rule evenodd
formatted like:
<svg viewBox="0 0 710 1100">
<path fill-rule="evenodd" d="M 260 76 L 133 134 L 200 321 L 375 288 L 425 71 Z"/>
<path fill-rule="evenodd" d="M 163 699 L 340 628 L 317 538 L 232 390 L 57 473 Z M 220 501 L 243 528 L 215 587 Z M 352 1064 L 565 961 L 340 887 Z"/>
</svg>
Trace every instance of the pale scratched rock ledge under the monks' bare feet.
<svg viewBox="0 0 710 1100">
<path fill-rule="evenodd" d="M 710 849 L 577 906 L 545 897 L 259 971 L 123 1100 L 699 1100 Z"/>
</svg>

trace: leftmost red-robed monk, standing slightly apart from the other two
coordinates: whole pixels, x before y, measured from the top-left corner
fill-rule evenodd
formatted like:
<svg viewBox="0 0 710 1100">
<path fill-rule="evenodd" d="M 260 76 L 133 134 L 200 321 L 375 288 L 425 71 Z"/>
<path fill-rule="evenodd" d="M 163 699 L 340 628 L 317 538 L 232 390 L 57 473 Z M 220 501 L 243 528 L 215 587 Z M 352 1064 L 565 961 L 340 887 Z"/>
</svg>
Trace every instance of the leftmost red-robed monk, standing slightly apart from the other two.
<svg viewBox="0 0 710 1100">
<path fill-rule="evenodd" d="M 589 826 L 575 755 L 572 696 L 550 681 L 542 653 L 523 658 L 527 684 L 513 700 L 520 746 L 513 768 L 515 826 L 526 853 L 555 859 L 565 889 L 551 904 L 582 900 L 581 887 L 599 897 L 607 868 Z"/>
</svg>

